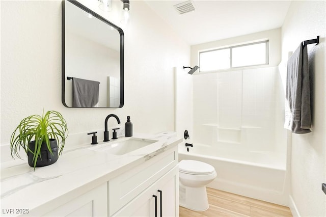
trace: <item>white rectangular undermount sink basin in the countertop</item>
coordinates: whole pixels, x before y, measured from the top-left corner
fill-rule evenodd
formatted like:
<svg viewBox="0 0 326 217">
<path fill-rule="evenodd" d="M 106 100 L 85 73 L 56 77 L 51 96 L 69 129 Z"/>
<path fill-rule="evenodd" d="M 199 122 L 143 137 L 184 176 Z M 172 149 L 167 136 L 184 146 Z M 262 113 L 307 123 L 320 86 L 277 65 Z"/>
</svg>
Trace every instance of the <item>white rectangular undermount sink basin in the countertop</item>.
<svg viewBox="0 0 326 217">
<path fill-rule="evenodd" d="M 128 138 L 117 142 L 110 142 L 107 144 L 95 146 L 90 149 L 94 151 L 100 151 L 100 152 L 110 153 L 114 155 L 123 155 L 131 151 L 137 150 L 139 148 L 143 148 L 145 146 L 153 144 L 155 142 L 157 142 L 157 140 Z"/>
</svg>

